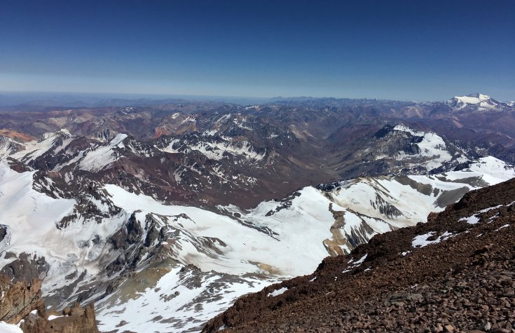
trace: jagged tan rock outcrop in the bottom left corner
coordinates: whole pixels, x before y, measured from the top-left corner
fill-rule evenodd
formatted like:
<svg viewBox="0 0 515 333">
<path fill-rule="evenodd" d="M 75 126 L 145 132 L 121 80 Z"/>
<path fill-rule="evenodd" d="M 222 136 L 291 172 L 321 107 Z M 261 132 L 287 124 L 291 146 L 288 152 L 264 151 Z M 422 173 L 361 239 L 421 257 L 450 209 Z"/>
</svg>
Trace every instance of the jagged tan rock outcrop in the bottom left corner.
<svg viewBox="0 0 515 333">
<path fill-rule="evenodd" d="M 95 308 L 74 304 L 65 308 L 62 315 L 48 320 L 45 304 L 41 298 L 41 280 L 34 279 L 11 283 L 7 276 L 0 275 L 0 321 L 18 324 L 23 332 L 30 333 L 96 333 Z"/>
</svg>

